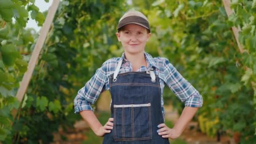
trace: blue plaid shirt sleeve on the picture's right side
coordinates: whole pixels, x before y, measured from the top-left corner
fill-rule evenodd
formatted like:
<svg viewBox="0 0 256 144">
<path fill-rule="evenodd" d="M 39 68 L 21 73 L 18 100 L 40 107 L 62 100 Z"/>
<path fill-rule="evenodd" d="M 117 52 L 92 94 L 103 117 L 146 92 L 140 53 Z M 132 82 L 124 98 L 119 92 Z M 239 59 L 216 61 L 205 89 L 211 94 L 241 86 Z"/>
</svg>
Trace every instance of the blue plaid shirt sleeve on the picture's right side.
<svg viewBox="0 0 256 144">
<path fill-rule="evenodd" d="M 199 92 L 177 71 L 168 59 L 163 58 L 165 83 L 186 107 L 202 107 L 203 97 Z"/>
</svg>

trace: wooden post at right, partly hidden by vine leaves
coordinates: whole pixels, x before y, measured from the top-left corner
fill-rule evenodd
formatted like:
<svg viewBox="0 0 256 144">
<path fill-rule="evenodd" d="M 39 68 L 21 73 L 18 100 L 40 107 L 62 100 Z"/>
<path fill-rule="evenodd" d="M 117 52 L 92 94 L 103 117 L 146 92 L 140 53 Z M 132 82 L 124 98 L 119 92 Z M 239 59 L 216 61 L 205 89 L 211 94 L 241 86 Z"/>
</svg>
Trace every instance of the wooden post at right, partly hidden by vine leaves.
<svg viewBox="0 0 256 144">
<path fill-rule="evenodd" d="M 233 13 L 233 11 L 230 8 L 230 0 L 222 0 L 222 2 L 224 4 L 225 10 L 227 12 L 227 16 L 229 17 Z M 232 27 L 232 30 L 234 32 L 235 40 L 237 41 L 239 51 L 240 51 L 240 53 L 243 53 L 244 52 L 243 46 L 239 43 L 239 40 L 238 40 L 239 29 L 237 29 L 237 27 Z"/>
</svg>

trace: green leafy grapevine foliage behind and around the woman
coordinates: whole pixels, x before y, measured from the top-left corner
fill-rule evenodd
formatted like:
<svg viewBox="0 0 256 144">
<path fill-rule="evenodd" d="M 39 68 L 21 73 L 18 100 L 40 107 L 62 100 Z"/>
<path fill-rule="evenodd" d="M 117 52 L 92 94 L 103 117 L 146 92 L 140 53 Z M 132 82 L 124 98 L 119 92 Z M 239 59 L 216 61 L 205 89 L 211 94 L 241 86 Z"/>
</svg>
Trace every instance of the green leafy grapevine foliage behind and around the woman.
<svg viewBox="0 0 256 144">
<path fill-rule="evenodd" d="M 42 25 L 46 15 L 34 2 L 0 1 L 0 141 L 47 143 L 59 126 L 68 128 L 80 118 L 73 99 L 104 61 L 123 52 L 115 32 L 130 8 L 150 21 L 146 51 L 168 58 L 202 94 L 198 115 L 218 119 L 211 128 L 223 134 L 240 132 L 242 143 L 256 141 L 256 0 L 232 0 L 235 13 L 229 18 L 221 0 L 63 0 L 18 107 L 15 95 L 37 41 L 37 34 L 24 27 L 28 18 Z M 233 26 L 241 28 L 243 53 Z M 169 91 L 165 102 L 181 111 L 183 104 Z"/>
</svg>

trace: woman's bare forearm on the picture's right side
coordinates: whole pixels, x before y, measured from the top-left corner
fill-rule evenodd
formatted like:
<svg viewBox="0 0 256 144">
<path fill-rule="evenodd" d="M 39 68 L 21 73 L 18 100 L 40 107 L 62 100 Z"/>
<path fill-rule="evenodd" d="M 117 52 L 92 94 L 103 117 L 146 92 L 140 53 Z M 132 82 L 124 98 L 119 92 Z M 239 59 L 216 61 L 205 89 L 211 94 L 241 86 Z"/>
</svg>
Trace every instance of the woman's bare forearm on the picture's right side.
<svg viewBox="0 0 256 144">
<path fill-rule="evenodd" d="M 177 133 L 181 134 L 186 128 L 186 125 L 194 117 L 197 110 L 198 107 L 185 107 L 181 113 L 181 116 L 176 121 L 173 129 L 175 129 Z"/>
</svg>

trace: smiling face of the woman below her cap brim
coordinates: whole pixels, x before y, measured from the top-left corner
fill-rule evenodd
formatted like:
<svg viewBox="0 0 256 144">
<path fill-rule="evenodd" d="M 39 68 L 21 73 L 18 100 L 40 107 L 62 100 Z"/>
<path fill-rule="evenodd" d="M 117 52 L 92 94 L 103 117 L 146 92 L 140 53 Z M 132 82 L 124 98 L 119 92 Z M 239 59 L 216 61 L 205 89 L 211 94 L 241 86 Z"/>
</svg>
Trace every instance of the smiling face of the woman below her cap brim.
<svg viewBox="0 0 256 144">
<path fill-rule="evenodd" d="M 147 32 L 146 28 L 137 24 L 127 24 L 116 35 L 126 53 L 136 54 L 144 52 L 145 45 L 151 34 Z"/>
</svg>

